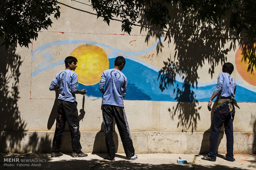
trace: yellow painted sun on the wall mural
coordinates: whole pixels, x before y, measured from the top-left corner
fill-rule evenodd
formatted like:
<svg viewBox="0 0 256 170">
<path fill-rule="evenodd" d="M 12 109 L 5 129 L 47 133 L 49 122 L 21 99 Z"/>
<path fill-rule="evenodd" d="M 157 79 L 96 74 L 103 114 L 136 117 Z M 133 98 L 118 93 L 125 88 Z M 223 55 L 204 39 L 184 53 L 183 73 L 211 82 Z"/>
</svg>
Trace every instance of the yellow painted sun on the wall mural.
<svg viewBox="0 0 256 170">
<path fill-rule="evenodd" d="M 102 48 L 83 44 L 74 49 L 70 56 L 76 57 L 78 83 L 83 85 L 95 85 L 100 82 L 104 70 L 109 69 L 109 59 Z"/>
</svg>

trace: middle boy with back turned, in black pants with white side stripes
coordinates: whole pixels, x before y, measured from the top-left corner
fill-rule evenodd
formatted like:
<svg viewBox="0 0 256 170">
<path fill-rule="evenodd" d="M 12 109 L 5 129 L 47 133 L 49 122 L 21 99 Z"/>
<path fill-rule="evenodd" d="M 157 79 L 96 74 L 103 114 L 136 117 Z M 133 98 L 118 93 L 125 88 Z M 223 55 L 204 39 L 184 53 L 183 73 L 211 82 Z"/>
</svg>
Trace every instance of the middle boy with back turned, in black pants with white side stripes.
<svg viewBox="0 0 256 170">
<path fill-rule="evenodd" d="M 99 83 L 102 92 L 102 115 L 105 140 L 107 145 L 107 159 L 115 160 L 115 144 L 113 141 L 113 119 L 115 118 L 123 149 L 130 160 L 137 159 L 133 147 L 133 140 L 124 111 L 123 98 L 126 96 L 127 78 L 121 72 L 126 64 L 123 56 L 116 57 L 114 68 L 103 71 Z"/>
</svg>

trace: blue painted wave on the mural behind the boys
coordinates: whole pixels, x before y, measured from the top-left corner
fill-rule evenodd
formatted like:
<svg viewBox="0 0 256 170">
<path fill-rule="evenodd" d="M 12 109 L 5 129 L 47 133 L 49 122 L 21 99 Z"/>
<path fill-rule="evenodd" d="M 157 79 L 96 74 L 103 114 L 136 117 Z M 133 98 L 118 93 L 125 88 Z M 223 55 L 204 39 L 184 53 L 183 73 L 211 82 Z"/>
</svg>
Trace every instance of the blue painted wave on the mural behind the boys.
<svg viewBox="0 0 256 170">
<path fill-rule="evenodd" d="M 109 66 L 114 67 L 114 58 L 109 59 Z M 192 86 L 183 89 L 183 83 L 176 80 L 174 86 L 170 86 L 163 92 L 159 88 L 159 73 L 139 62 L 126 58 L 126 67 L 122 70 L 128 79 L 126 100 L 147 101 L 209 101 L 215 90 L 216 84 L 205 85 L 197 88 Z M 99 83 L 95 85 L 83 85 L 78 83 L 78 90 L 86 89 L 87 96 L 102 97 L 98 90 Z M 180 91 L 179 91 L 180 90 Z M 177 92 L 181 92 L 178 93 Z M 235 96 L 237 102 L 256 102 L 256 92 L 237 85 Z"/>
</svg>

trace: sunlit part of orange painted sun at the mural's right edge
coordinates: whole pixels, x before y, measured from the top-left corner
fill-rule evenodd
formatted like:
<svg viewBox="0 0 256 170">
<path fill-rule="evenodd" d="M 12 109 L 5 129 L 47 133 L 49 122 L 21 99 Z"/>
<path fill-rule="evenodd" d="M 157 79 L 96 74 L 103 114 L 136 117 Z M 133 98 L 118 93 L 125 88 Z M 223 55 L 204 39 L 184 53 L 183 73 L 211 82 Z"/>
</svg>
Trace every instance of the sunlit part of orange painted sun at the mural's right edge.
<svg viewBox="0 0 256 170">
<path fill-rule="evenodd" d="M 254 44 L 256 45 L 256 44 Z M 254 51 L 255 53 L 255 51 Z M 252 74 L 251 71 L 247 71 L 248 69 L 248 59 L 247 60 L 243 60 L 243 49 L 242 46 L 240 46 L 237 50 L 237 53 L 235 55 L 235 65 L 237 68 L 237 71 L 239 73 L 239 75 L 248 83 L 250 83 L 251 85 L 255 85 L 256 86 L 256 74 Z"/>
</svg>

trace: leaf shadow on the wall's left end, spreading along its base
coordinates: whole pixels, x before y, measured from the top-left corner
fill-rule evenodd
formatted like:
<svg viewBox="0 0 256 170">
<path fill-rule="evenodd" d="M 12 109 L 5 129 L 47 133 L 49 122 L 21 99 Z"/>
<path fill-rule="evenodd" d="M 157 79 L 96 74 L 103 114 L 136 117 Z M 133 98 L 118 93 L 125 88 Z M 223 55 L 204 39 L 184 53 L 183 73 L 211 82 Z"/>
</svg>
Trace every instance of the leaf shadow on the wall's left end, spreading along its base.
<svg viewBox="0 0 256 170">
<path fill-rule="evenodd" d="M 50 152 L 49 136 L 36 132 L 25 133 L 26 121 L 21 117 L 18 105 L 21 74 L 19 69 L 22 61 L 21 56 L 16 53 L 16 48 L 17 44 L 7 50 L 5 46 L 0 46 L 0 152 Z M 28 143 L 23 144 L 22 141 Z"/>
</svg>

